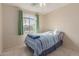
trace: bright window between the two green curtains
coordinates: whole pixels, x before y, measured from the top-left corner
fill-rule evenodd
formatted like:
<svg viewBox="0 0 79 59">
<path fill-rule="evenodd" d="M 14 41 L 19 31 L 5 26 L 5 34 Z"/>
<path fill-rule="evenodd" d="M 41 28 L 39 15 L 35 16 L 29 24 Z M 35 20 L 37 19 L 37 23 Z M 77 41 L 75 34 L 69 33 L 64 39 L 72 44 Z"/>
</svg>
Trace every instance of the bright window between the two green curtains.
<svg viewBox="0 0 79 59">
<path fill-rule="evenodd" d="M 36 31 L 36 17 L 25 15 L 23 17 L 24 33 Z"/>
</svg>

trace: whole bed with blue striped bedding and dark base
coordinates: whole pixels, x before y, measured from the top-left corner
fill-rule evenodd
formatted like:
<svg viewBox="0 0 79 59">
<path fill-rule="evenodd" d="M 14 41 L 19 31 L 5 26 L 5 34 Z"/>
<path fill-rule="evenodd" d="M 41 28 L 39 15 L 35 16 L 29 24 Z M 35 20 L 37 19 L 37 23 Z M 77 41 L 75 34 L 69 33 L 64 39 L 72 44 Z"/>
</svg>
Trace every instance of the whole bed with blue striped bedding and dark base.
<svg viewBox="0 0 79 59">
<path fill-rule="evenodd" d="M 25 44 L 33 51 L 34 56 L 45 56 L 63 44 L 63 36 L 61 31 L 29 33 L 25 38 Z"/>
</svg>

